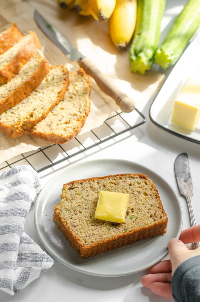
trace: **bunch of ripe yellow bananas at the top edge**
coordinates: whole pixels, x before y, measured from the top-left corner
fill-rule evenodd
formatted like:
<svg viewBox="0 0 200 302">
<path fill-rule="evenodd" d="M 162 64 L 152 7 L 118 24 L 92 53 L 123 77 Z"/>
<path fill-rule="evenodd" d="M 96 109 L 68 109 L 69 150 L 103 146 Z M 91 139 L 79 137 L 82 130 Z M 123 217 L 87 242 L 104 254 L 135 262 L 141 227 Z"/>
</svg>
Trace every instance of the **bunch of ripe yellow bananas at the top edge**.
<svg viewBox="0 0 200 302">
<path fill-rule="evenodd" d="M 135 30 L 137 0 L 59 0 L 60 7 L 105 22 L 110 19 L 110 37 L 118 50 L 126 47 Z"/>
</svg>

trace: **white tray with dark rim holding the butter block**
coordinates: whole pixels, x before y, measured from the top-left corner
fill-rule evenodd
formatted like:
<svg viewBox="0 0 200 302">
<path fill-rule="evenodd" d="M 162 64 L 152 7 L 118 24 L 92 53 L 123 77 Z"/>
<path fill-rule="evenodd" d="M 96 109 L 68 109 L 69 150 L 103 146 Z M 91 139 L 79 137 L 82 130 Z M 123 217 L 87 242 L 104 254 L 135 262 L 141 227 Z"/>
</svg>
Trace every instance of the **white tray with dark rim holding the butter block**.
<svg viewBox="0 0 200 302">
<path fill-rule="evenodd" d="M 150 119 L 157 127 L 194 143 L 200 143 L 200 122 L 194 131 L 190 131 L 172 123 L 171 116 L 174 99 L 200 65 L 199 51 L 200 32 L 173 67 L 149 110 Z"/>
</svg>

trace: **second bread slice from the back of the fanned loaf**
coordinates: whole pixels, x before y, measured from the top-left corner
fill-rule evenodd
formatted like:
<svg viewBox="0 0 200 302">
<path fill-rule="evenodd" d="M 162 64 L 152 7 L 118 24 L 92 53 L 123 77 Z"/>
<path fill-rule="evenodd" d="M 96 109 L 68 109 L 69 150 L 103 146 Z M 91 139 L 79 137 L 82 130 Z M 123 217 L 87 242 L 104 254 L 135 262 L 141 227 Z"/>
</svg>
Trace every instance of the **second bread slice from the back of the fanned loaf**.
<svg viewBox="0 0 200 302">
<path fill-rule="evenodd" d="M 40 48 L 40 41 L 33 31 L 24 35 L 5 53 L 0 55 L 0 84 L 7 83 Z"/>
</svg>

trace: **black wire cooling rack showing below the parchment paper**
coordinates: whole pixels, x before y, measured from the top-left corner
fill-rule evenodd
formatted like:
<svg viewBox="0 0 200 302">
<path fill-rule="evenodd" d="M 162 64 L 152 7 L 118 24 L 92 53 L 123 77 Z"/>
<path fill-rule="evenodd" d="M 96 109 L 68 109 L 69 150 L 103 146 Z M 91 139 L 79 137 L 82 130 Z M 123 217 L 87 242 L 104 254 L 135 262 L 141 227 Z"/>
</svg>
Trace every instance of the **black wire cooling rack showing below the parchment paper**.
<svg viewBox="0 0 200 302">
<path fill-rule="evenodd" d="M 29 164 L 37 172 L 41 172 L 73 156 L 84 154 L 88 149 L 102 143 L 113 144 L 116 142 L 115 137 L 123 133 L 131 135 L 129 131 L 144 124 L 145 121 L 146 118 L 137 108 L 131 113 L 115 111 L 100 127 L 80 134 L 67 143 L 43 146 L 35 151 L 22 153 L 6 160 L 0 164 L 0 172 L 10 169 L 14 165 L 25 164 Z"/>
</svg>

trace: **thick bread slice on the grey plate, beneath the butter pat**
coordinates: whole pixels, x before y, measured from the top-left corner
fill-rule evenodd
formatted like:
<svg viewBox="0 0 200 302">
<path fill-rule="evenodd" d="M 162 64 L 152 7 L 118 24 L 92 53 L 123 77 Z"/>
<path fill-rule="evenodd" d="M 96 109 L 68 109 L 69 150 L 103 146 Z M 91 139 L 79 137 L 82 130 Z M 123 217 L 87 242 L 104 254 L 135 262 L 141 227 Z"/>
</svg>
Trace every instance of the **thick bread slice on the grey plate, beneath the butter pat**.
<svg viewBox="0 0 200 302">
<path fill-rule="evenodd" d="M 124 223 L 95 219 L 100 191 L 129 194 Z M 53 220 L 81 258 L 166 233 L 167 215 L 154 183 L 143 174 L 118 174 L 63 185 Z"/>
</svg>

